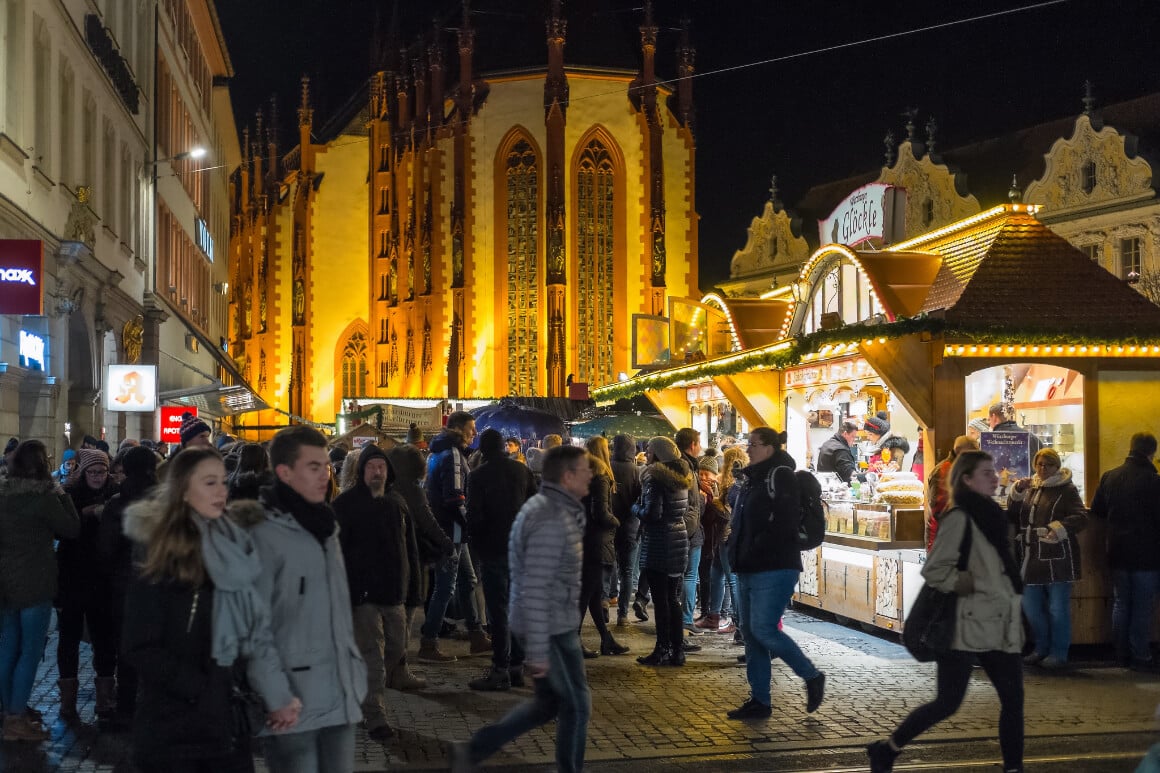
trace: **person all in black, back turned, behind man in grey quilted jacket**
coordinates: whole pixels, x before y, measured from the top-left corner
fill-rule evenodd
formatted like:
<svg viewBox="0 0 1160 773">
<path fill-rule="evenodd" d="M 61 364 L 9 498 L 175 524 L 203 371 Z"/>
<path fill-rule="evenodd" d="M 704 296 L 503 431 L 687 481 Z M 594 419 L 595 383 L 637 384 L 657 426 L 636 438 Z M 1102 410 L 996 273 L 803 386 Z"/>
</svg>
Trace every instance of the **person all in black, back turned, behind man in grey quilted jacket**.
<svg viewBox="0 0 1160 773">
<path fill-rule="evenodd" d="M 508 535 L 520 508 L 536 494 L 531 470 L 507 455 L 503 435 L 484 429 L 479 435 L 483 464 L 467 475 L 467 532 L 479 556 L 487 621 L 492 636 L 492 667 L 467 684 L 472 689 L 502 691 L 523 686 L 523 648 L 508 630 L 512 578 Z"/>
</svg>

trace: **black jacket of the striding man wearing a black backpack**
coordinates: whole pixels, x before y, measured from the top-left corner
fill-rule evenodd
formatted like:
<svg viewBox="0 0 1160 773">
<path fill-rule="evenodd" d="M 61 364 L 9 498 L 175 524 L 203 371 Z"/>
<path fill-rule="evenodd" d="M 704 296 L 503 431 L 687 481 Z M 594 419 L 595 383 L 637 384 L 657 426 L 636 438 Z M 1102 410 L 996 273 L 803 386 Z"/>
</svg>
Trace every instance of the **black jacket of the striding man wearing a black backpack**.
<svg viewBox="0 0 1160 773">
<path fill-rule="evenodd" d="M 802 571 L 802 554 L 797 548 L 800 526 L 797 499 L 783 500 L 780 494 L 776 499 L 769 497 L 769 475 L 780 467 L 792 470 L 797 463 L 778 449 L 771 457 L 751 464 L 737 476 L 728 557 L 733 571 L 739 575 L 777 569 Z"/>
</svg>

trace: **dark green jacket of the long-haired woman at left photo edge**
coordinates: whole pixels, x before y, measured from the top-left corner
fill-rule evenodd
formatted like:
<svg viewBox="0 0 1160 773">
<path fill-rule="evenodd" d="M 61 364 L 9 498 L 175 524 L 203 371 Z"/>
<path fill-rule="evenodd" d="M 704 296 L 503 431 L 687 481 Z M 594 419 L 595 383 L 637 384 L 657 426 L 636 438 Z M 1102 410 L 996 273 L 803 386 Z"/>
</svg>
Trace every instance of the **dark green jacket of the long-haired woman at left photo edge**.
<svg viewBox="0 0 1160 773">
<path fill-rule="evenodd" d="M 80 534 L 80 519 L 52 481 L 0 482 L 0 609 L 26 609 L 57 594 L 57 537 Z"/>
</svg>

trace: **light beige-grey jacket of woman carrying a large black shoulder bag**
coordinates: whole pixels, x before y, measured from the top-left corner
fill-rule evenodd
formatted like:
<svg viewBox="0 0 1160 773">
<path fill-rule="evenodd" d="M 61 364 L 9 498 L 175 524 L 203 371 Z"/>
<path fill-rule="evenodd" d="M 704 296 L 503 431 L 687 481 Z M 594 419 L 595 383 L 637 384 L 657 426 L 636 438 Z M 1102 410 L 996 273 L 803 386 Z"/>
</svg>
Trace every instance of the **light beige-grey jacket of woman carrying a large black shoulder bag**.
<svg viewBox="0 0 1160 773">
<path fill-rule="evenodd" d="M 959 547 L 964 529 L 971 532 L 966 570 L 973 590 L 958 599 L 951 649 L 962 652 L 1023 651 L 1022 597 L 1003 572 L 999 551 L 987 541 L 966 511 L 954 508 L 938 521 L 938 537 L 922 566 L 922 577 L 938 591 L 951 593 L 958 583 Z"/>
</svg>

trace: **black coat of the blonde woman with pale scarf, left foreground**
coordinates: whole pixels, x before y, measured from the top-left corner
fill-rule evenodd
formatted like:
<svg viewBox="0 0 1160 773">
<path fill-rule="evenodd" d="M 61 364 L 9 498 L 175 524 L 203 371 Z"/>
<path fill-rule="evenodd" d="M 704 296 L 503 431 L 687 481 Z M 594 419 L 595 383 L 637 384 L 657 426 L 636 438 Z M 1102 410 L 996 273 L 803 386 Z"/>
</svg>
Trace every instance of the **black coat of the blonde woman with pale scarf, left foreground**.
<svg viewBox="0 0 1160 773">
<path fill-rule="evenodd" d="M 135 579 L 125 600 L 122 651 L 137 670 L 138 764 L 205 759 L 234 747 L 232 673 L 211 657 L 213 586 Z M 248 743 L 248 738 L 242 739 Z"/>
</svg>

